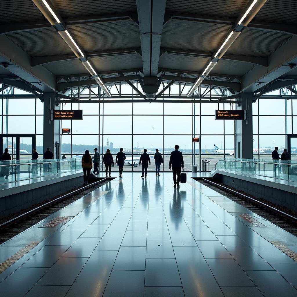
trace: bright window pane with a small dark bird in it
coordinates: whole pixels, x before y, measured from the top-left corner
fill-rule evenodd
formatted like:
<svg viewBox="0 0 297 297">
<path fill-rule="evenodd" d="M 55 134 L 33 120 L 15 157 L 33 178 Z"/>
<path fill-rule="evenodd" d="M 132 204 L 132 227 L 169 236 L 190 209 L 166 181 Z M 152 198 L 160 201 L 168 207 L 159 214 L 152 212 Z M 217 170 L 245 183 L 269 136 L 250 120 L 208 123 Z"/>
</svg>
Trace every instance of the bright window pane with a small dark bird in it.
<svg viewBox="0 0 297 297">
<path fill-rule="evenodd" d="M 163 134 L 162 116 L 134 116 L 134 134 Z"/>
</svg>

